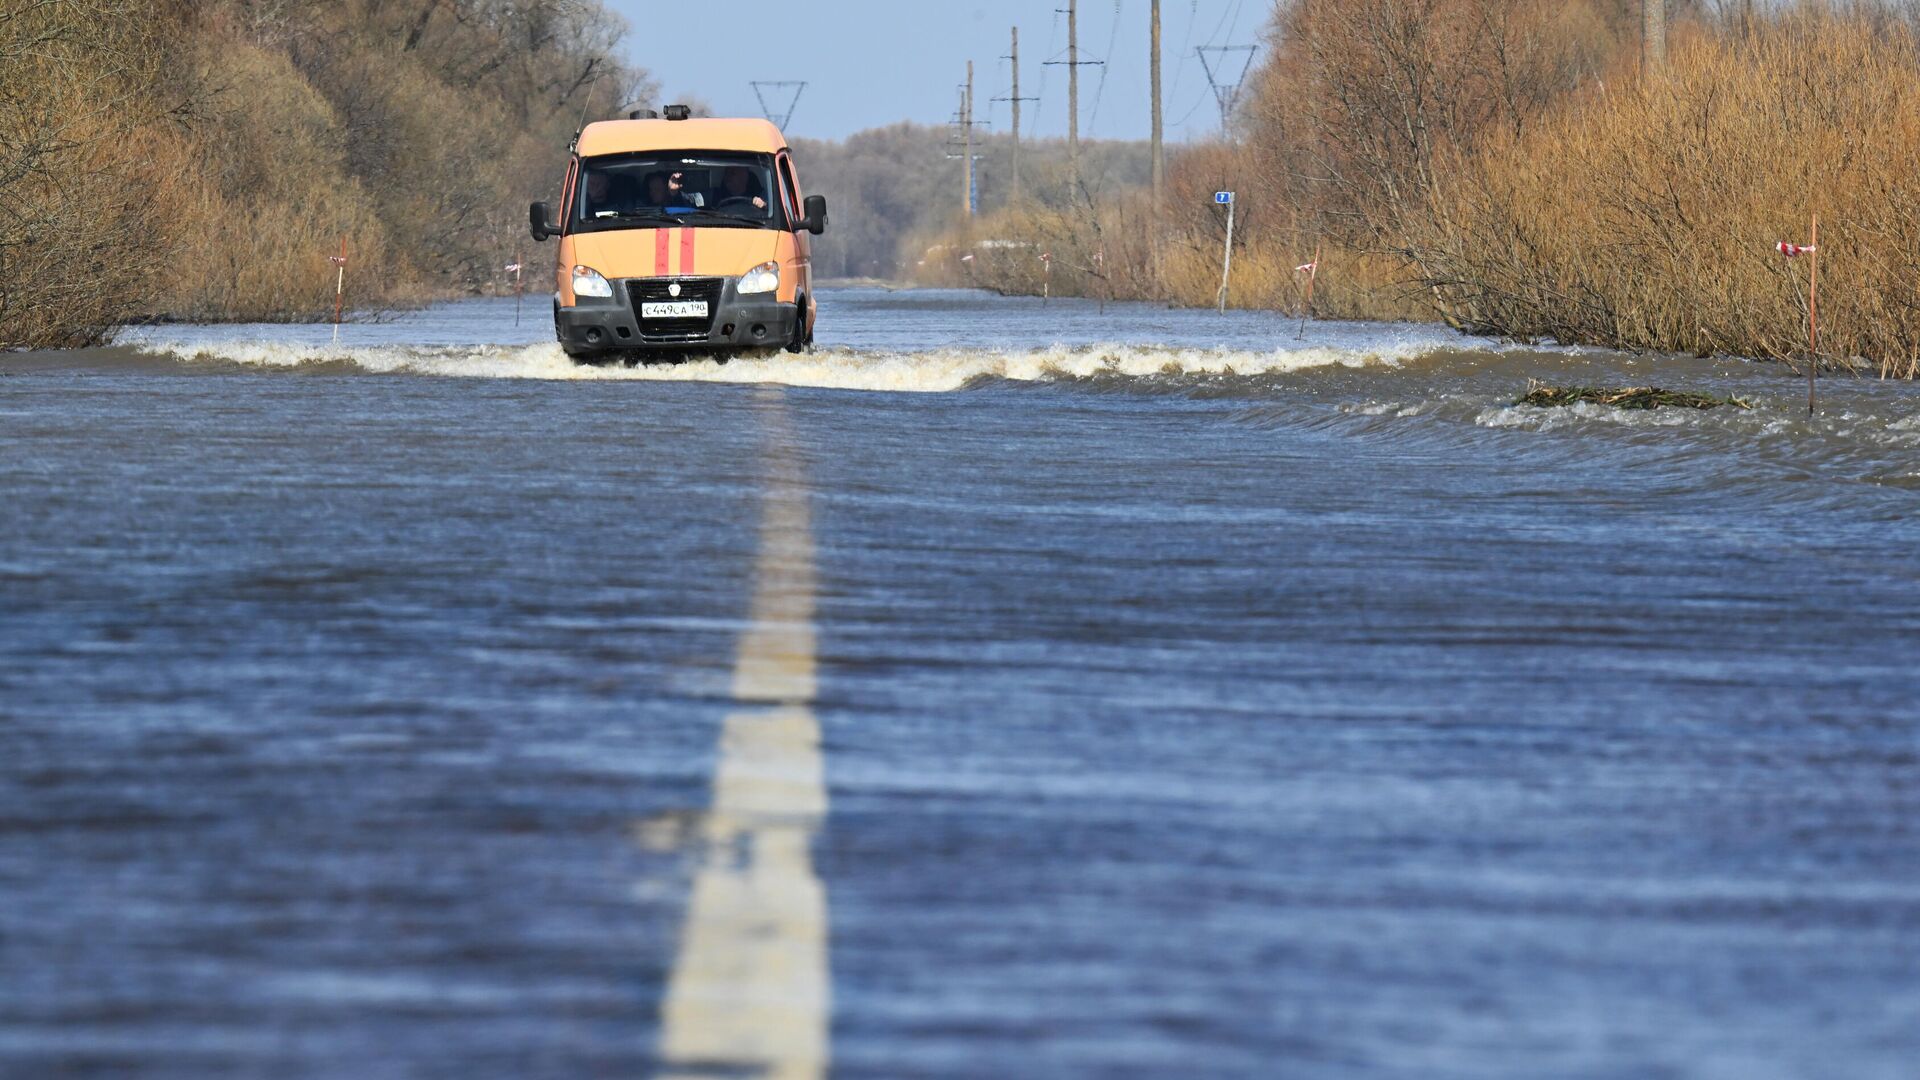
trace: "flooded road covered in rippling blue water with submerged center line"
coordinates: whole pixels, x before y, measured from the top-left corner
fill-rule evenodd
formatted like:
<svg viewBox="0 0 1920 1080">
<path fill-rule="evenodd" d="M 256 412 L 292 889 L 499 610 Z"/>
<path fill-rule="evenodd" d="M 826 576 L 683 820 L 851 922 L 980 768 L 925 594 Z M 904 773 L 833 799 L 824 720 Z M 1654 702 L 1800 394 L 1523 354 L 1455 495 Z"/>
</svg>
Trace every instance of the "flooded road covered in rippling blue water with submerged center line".
<svg viewBox="0 0 1920 1080">
<path fill-rule="evenodd" d="M 1920 394 L 1294 334 L 0 356 L 0 1074 L 1910 1078 Z"/>
</svg>

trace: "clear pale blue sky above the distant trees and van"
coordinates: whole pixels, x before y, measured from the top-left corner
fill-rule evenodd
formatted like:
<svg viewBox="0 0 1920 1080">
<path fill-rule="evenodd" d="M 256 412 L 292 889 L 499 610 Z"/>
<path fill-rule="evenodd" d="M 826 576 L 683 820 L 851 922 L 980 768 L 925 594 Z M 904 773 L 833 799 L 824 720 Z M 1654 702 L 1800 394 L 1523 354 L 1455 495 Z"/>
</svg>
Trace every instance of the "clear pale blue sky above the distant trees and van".
<svg viewBox="0 0 1920 1080">
<path fill-rule="evenodd" d="M 1023 135 L 1066 135 L 1066 0 L 605 0 L 632 31 L 628 54 L 653 71 L 668 102 L 699 96 L 720 115 L 760 115 L 755 79 L 804 79 L 787 129 L 843 138 L 902 119 L 947 123 L 973 60 L 975 119 L 1008 129 L 1008 29 L 1020 25 L 1020 90 L 1041 96 L 1021 113 Z M 1116 21 L 1116 10 L 1119 17 Z M 685 13 L 691 12 L 693 17 Z M 1081 0 L 1081 138 L 1146 138 L 1148 0 Z M 1219 129 L 1200 44 L 1256 44 L 1271 0 L 1162 0 L 1167 138 Z M 732 29 L 733 33 L 726 33 Z M 781 27 L 781 29 L 774 29 Z M 1242 58 L 1221 58 L 1233 73 Z M 1102 88 L 1102 75 L 1106 86 Z M 989 111 L 991 108 L 991 111 Z M 1035 108 L 1039 113 L 1035 113 Z"/>
</svg>

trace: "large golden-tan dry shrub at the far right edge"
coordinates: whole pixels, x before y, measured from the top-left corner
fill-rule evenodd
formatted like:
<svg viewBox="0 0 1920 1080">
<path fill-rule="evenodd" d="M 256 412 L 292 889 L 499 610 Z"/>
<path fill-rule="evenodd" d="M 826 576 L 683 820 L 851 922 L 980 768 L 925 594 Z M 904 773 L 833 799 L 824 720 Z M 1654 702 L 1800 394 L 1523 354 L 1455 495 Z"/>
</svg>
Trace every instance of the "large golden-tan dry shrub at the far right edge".
<svg viewBox="0 0 1920 1080">
<path fill-rule="evenodd" d="M 1684 42 L 1617 86 L 1453 154 L 1413 238 L 1459 323 L 1791 359 L 1820 213 L 1822 357 L 1920 369 L 1920 58 L 1897 21 L 1803 12 Z"/>
</svg>

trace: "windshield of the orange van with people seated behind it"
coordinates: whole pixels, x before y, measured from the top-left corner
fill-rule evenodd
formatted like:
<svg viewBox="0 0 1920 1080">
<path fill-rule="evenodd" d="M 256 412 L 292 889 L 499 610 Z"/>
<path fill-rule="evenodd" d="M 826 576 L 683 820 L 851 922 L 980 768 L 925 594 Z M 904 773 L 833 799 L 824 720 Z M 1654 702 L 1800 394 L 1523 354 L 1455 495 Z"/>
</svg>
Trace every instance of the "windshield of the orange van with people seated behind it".
<svg viewBox="0 0 1920 1080">
<path fill-rule="evenodd" d="M 572 223 L 580 233 L 701 225 L 785 229 L 766 154 L 618 154 L 580 161 Z"/>
</svg>

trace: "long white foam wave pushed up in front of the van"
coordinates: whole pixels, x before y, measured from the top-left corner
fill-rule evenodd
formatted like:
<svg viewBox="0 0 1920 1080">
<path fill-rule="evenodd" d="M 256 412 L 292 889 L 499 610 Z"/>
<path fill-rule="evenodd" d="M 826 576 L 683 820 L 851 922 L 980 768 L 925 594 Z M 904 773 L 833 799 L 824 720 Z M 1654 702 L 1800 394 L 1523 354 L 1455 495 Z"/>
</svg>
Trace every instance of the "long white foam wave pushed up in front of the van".
<svg viewBox="0 0 1920 1080">
<path fill-rule="evenodd" d="M 839 390 L 948 392 L 977 379 L 1041 382 L 1102 375 L 1275 375 L 1311 367 L 1400 365 L 1444 348 L 1440 342 L 1396 342 L 1375 350 L 1298 348 L 1277 352 L 1167 346 L 1054 346 L 1044 350 L 818 350 L 804 356 L 689 359 L 657 365 L 582 365 L 557 344 L 538 346 L 296 346 L 282 342 L 152 342 L 140 350 L 182 361 L 227 361 L 250 367 L 346 363 L 369 373 L 457 379 L 639 379 L 662 382 L 768 382 Z"/>
</svg>

